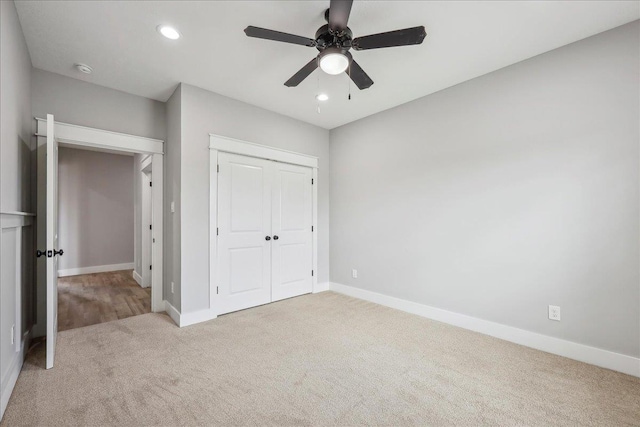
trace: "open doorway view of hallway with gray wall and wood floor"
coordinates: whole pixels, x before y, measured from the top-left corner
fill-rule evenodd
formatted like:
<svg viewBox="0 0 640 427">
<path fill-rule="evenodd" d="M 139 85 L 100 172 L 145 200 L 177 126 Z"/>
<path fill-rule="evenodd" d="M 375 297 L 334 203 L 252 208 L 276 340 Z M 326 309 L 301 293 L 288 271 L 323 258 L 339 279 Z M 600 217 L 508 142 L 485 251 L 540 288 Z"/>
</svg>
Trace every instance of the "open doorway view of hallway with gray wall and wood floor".
<svg viewBox="0 0 640 427">
<path fill-rule="evenodd" d="M 151 288 L 133 277 L 135 169 L 131 153 L 58 149 L 58 331 L 151 312 Z"/>
</svg>

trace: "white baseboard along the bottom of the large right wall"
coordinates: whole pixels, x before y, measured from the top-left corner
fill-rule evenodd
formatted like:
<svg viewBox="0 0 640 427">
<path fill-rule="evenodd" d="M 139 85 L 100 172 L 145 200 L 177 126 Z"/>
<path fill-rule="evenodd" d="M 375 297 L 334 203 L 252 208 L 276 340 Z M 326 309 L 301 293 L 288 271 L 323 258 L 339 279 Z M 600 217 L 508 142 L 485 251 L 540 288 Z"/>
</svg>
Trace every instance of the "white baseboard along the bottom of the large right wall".
<svg viewBox="0 0 640 427">
<path fill-rule="evenodd" d="M 589 363 L 628 375 L 640 377 L 640 358 L 614 353 L 601 348 L 590 347 L 536 332 L 526 331 L 513 326 L 502 325 L 488 320 L 452 311 L 442 310 L 416 302 L 390 297 L 376 292 L 367 291 L 353 286 L 342 285 L 340 283 L 330 283 L 332 291 L 345 294 L 354 298 L 363 299 L 386 307 L 417 314 L 418 316 L 448 323 L 460 328 L 480 332 L 485 335 L 500 338 L 526 347 L 542 350 L 558 356 Z"/>
</svg>

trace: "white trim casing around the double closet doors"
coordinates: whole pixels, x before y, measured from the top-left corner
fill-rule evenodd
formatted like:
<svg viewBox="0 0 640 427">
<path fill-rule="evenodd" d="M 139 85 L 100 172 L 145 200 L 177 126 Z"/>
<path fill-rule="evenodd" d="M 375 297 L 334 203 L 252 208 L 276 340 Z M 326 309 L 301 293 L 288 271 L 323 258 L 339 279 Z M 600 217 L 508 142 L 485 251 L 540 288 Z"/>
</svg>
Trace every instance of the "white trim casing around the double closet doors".
<svg viewBox="0 0 640 427">
<path fill-rule="evenodd" d="M 209 307 L 216 314 L 219 313 L 217 304 L 218 283 L 218 153 L 225 152 L 242 156 L 274 160 L 312 169 L 312 265 L 313 265 L 313 293 L 318 288 L 318 158 L 308 154 L 255 144 L 226 136 L 209 134 Z"/>
</svg>

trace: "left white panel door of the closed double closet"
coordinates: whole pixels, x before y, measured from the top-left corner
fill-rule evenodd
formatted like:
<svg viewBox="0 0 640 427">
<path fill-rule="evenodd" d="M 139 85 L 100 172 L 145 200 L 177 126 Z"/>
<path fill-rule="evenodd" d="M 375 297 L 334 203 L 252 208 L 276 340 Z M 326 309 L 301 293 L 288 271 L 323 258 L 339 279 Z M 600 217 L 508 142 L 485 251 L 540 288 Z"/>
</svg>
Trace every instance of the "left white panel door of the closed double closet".
<svg viewBox="0 0 640 427">
<path fill-rule="evenodd" d="M 220 314 L 271 301 L 272 162 L 218 155 Z"/>
</svg>

